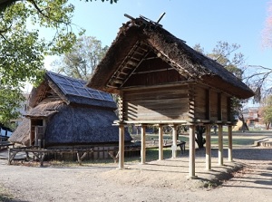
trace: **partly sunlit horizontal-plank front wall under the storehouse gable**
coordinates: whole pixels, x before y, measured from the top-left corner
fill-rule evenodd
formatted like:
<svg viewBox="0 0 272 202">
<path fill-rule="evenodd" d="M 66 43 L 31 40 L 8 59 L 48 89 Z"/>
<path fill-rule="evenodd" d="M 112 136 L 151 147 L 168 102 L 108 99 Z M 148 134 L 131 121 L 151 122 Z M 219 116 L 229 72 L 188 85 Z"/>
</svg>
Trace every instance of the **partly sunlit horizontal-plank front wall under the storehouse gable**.
<svg viewBox="0 0 272 202">
<path fill-rule="evenodd" d="M 122 92 L 124 120 L 188 120 L 187 85 Z"/>
</svg>

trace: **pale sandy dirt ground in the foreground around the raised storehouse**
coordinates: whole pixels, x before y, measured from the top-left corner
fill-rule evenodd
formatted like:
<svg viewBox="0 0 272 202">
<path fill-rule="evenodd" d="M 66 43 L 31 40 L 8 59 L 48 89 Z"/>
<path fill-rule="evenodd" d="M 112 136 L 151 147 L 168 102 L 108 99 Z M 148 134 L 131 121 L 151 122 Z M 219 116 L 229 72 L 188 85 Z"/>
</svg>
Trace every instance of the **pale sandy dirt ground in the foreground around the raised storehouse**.
<svg viewBox="0 0 272 202">
<path fill-rule="evenodd" d="M 271 148 L 235 148 L 234 162 L 224 158 L 223 167 L 212 149 L 211 171 L 205 170 L 205 151 L 196 155 L 198 179 L 188 178 L 188 151 L 177 159 L 126 163 L 123 170 L 116 164 L 37 168 L 0 160 L 0 186 L 13 201 L 272 201 Z"/>
</svg>

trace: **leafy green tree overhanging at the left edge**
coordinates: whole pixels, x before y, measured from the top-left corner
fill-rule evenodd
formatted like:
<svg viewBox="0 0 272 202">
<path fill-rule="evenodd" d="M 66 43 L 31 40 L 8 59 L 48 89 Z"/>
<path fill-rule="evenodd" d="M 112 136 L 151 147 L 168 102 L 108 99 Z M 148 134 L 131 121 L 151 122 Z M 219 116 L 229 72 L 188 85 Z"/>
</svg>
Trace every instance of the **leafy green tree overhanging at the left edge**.
<svg viewBox="0 0 272 202">
<path fill-rule="evenodd" d="M 42 80 L 44 55 L 73 47 L 73 10 L 68 0 L 0 0 L 0 122 L 16 117 L 24 82 Z M 34 27 L 53 35 L 45 39 Z"/>
</svg>

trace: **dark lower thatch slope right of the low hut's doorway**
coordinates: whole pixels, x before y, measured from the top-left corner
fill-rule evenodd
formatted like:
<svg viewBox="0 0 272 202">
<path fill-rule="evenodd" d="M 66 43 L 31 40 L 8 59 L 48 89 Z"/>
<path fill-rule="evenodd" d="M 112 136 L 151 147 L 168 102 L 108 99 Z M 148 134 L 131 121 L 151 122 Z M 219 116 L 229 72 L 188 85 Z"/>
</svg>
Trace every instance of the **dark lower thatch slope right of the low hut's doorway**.
<svg viewBox="0 0 272 202">
<path fill-rule="evenodd" d="M 46 145 L 117 143 L 118 127 L 113 111 L 63 106 L 49 121 L 45 132 Z M 128 132 L 125 141 L 131 141 Z"/>
</svg>

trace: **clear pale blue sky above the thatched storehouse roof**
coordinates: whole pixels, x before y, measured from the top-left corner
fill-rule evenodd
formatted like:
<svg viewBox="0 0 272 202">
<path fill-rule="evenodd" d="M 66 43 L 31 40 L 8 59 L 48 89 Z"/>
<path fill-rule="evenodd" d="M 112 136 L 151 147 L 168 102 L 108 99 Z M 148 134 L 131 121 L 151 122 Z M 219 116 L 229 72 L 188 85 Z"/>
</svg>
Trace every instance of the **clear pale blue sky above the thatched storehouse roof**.
<svg viewBox="0 0 272 202">
<path fill-rule="evenodd" d="M 140 14 L 157 21 L 171 34 L 193 47 L 200 43 L 210 53 L 219 41 L 238 43 L 238 52 L 248 65 L 272 68 L 272 48 L 262 46 L 261 33 L 267 17 L 269 0 L 118 0 L 117 4 L 70 0 L 75 5 L 73 24 L 83 27 L 86 35 L 95 36 L 110 46 L 122 24 L 124 14 Z M 74 28 L 76 31 L 76 28 Z M 47 57 L 45 67 L 51 70 L 55 58 Z"/>
</svg>

